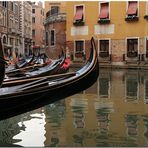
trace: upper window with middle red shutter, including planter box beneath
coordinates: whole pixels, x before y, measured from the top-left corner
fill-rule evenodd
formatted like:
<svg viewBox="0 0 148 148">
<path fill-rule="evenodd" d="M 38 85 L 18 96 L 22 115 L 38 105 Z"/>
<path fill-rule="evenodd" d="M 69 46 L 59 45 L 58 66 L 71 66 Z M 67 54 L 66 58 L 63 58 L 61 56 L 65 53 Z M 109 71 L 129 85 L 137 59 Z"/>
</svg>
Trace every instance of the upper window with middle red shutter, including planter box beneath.
<svg viewBox="0 0 148 148">
<path fill-rule="evenodd" d="M 98 23 L 109 23 L 109 3 L 100 3 Z"/>
</svg>

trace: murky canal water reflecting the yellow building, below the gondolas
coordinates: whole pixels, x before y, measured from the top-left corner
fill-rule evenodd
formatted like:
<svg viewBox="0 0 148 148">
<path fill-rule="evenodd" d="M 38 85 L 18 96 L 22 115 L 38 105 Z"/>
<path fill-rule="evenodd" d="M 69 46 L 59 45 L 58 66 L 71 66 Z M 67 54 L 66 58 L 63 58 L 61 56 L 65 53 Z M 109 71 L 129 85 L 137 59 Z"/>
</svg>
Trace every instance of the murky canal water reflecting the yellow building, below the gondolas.
<svg viewBox="0 0 148 148">
<path fill-rule="evenodd" d="M 100 69 L 89 89 L 1 120 L 0 146 L 148 146 L 148 71 Z"/>
</svg>

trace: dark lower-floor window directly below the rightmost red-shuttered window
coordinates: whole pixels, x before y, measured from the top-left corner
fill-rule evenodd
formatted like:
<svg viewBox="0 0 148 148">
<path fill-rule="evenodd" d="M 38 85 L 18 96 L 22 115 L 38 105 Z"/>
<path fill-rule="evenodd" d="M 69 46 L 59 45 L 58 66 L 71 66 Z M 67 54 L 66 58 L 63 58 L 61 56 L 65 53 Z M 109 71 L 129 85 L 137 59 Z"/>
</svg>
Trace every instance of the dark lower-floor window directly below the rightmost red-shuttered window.
<svg viewBox="0 0 148 148">
<path fill-rule="evenodd" d="M 127 39 L 127 57 L 138 56 L 138 39 Z"/>
</svg>

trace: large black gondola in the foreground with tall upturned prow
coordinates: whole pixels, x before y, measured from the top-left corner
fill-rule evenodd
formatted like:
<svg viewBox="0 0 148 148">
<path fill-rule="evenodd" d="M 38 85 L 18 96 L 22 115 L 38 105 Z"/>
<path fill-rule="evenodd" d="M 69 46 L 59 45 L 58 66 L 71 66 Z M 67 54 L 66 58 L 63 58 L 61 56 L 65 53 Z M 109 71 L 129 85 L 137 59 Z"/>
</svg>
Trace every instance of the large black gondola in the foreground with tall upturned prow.
<svg viewBox="0 0 148 148">
<path fill-rule="evenodd" d="M 63 99 L 90 87 L 99 75 L 99 63 L 94 39 L 91 39 L 90 57 L 72 76 L 37 81 L 0 89 L 0 119 L 27 112 Z"/>
</svg>

